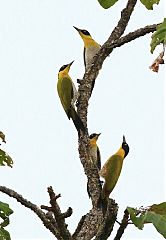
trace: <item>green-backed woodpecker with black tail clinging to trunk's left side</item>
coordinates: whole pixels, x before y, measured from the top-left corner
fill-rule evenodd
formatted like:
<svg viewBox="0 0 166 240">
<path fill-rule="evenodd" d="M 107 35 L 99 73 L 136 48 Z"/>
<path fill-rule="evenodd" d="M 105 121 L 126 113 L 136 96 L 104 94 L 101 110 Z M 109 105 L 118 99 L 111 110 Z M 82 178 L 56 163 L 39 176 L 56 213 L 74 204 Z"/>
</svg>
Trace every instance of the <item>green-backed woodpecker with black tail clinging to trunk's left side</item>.
<svg viewBox="0 0 166 240">
<path fill-rule="evenodd" d="M 74 106 L 75 101 L 77 100 L 78 97 L 78 92 L 71 77 L 68 74 L 73 62 L 63 65 L 59 69 L 57 90 L 62 106 L 68 118 L 69 119 L 71 118 L 73 120 L 73 123 L 78 133 L 80 133 L 80 130 L 85 131 L 85 127 L 80 117 L 78 116 Z"/>
</svg>

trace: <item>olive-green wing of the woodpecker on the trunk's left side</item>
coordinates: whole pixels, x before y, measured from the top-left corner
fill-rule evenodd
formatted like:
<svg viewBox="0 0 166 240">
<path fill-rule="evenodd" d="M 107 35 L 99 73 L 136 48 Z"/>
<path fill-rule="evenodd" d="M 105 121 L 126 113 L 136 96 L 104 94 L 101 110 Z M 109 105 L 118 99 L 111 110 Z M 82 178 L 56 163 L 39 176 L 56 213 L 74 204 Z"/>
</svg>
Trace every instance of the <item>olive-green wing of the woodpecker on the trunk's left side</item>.
<svg viewBox="0 0 166 240">
<path fill-rule="evenodd" d="M 71 79 L 70 78 L 58 79 L 57 90 L 62 106 L 68 118 L 70 119 L 71 100 L 73 98 L 73 86 Z"/>
</svg>

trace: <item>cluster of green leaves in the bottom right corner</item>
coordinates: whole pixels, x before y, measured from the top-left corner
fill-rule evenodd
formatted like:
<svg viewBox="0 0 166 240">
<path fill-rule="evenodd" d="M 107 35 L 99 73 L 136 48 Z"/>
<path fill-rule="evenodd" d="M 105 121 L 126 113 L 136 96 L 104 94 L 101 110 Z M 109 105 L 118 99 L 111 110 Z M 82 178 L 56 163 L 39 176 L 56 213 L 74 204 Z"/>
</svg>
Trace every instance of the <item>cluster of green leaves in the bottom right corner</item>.
<svg viewBox="0 0 166 240">
<path fill-rule="evenodd" d="M 127 208 L 130 219 L 138 229 L 144 224 L 152 223 L 156 230 L 166 238 L 166 202 L 153 204 L 147 209 Z"/>
</svg>

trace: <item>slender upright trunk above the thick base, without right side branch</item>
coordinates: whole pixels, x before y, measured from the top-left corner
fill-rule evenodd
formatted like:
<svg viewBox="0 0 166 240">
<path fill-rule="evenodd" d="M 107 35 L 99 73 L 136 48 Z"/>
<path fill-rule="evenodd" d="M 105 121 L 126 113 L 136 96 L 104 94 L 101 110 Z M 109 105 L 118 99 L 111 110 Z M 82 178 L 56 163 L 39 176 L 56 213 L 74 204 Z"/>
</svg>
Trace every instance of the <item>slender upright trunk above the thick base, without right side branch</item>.
<svg viewBox="0 0 166 240">
<path fill-rule="evenodd" d="M 107 57 L 106 45 L 113 43 L 124 33 L 126 26 L 129 22 L 130 16 L 134 10 L 137 0 L 128 0 L 126 7 L 121 12 L 121 18 L 117 26 L 112 31 L 109 39 L 101 47 L 98 54 L 94 56 L 94 61 L 91 67 L 85 72 L 83 80 L 79 85 L 79 98 L 78 98 L 78 114 L 81 117 L 84 126 L 87 126 L 87 113 L 88 113 L 88 101 L 91 95 L 92 82 L 95 81 L 98 76 L 99 70 L 103 64 L 104 59 Z M 98 207 L 101 194 L 101 184 L 99 180 L 98 169 L 89 160 L 89 145 L 88 134 L 83 134 L 79 137 L 79 156 L 81 163 L 84 167 L 85 174 L 88 177 L 89 192 L 92 199 L 92 205 Z"/>
</svg>

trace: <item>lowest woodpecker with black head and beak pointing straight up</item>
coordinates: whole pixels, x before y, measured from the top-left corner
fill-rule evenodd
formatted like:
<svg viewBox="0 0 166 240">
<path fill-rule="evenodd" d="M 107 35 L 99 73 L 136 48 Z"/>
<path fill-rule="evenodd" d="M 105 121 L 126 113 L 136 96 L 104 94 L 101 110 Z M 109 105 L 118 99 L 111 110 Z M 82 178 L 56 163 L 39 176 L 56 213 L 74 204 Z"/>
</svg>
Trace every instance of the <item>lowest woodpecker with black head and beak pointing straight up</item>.
<svg viewBox="0 0 166 240">
<path fill-rule="evenodd" d="M 128 153 L 129 145 L 126 142 L 125 136 L 123 136 L 121 147 L 106 161 L 99 172 L 100 176 L 105 179 L 105 183 L 102 188 L 102 199 L 107 199 L 114 189 L 122 170 L 123 160 Z"/>
</svg>

